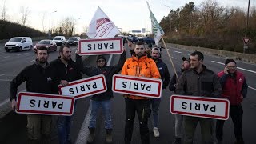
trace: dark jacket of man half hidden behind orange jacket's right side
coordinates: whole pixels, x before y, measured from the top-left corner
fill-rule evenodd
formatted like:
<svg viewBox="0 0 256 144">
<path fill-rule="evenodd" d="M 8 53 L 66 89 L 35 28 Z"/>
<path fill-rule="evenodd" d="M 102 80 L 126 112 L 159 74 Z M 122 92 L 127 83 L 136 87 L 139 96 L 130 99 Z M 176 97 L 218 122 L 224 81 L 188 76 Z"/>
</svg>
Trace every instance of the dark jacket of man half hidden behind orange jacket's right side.
<svg viewBox="0 0 256 144">
<path fill-rule="evenodd" d="M 164 62 L 162 62 L 162 59 L 158 59 L 156 64 L 158 66 L 158 70 L 162 79 L 162 89 L 166 89 L 166 87 L 170 82 L 170 73 L 169 73 L 168 67 Z"/>
</svg>

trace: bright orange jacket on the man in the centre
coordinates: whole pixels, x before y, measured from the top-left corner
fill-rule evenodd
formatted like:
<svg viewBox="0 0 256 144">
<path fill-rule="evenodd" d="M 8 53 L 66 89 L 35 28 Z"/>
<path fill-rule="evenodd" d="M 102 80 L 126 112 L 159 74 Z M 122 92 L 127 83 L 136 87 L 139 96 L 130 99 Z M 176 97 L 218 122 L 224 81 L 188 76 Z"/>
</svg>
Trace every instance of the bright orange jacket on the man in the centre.
<svg viewBox="0 0 256 144">
<path fill-rule="evenodd" d="M 153 59 L 147 58 L 146 55 L 141 58 L 137 58 L 135 56 L 128 58 L 122 67 L 121 74 L 136 77 L 161 78 L 158 66 Z M 126 94 L 126 96 L 131 99 L 148 99 L 136 95 Z"/>
</svg>

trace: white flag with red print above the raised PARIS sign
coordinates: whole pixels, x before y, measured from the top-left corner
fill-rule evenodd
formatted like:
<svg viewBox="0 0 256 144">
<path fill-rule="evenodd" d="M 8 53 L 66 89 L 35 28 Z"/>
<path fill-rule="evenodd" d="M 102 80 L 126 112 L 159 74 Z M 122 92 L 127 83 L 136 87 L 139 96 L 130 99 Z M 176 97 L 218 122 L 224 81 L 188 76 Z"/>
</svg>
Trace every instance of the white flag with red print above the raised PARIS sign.
<svg viewBox="0 0 256 144">
<path fill-rule="evenodd" d="M 90 38 L 114 38 L 120 31 L 100 7 L 90 21 L 87 36 Z"/>
</svg>

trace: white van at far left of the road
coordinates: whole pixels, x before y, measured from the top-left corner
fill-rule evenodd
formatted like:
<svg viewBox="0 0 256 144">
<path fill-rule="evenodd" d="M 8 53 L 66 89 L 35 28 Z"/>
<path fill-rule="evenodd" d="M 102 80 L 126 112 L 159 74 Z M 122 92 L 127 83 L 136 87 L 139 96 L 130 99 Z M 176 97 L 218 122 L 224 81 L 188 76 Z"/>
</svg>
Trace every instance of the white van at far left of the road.
<svg viewBox="0 0 256 144">
<path fill-rule="evenodd" d="M 6 52 L 10 50 L 22 51 L 22 50 L 32 50 L 33 42 L 30 37 L 14 37 L 10 38 L 5 44 Z"/>
</svg>

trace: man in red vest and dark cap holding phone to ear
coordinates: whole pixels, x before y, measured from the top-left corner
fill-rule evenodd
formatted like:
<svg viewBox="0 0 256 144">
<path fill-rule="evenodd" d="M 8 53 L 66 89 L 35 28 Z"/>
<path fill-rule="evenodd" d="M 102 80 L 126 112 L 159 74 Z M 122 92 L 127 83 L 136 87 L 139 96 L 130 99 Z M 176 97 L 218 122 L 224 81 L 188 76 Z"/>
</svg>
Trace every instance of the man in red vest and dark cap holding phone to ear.
<svg viewBox="0 0 256 144">
<path fill-rule="evenodd" d="M 222 85 L 222 98 L 227 98 L 230 101 L 230 116 L 234 123 L 235 143 L 243 144 L 241 102 L 243 98 L 246 98 L 248 85 L 245 76 L 236 70 L 236 67 L 236 62 L 233 59 L 227 59 L 224 70 L 217 75 Z M 224 122 L 223 120 L 217 120 L 216 122 L 218 143 L 222 143 Z"/>
</svg>

